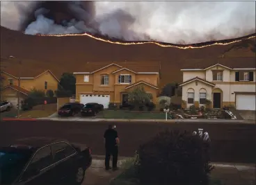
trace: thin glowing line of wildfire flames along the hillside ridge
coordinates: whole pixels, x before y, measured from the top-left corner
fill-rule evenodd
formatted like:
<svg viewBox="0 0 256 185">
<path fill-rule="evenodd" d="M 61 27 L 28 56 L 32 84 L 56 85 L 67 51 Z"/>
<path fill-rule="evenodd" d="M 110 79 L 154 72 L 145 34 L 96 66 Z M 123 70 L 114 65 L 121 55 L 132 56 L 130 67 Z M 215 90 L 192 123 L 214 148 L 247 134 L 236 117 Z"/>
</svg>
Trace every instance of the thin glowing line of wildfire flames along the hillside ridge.
<svg viewBox="0 0 256 185">
<path fill-rule="evenodd" d="M 207 46 L 214 46 L 214 45 L 227 45 L 227 44 L 232 44 L 236 42 L 241 42 L 243 39 L 251 39 L 256 37 L 256 35 L 251 35 L 248 37 L 243 37 L 243 38 L 238 38 L 238 39 L 232 39 L 232 40 L 223 40 L 221 41 L 216 41 L 216 42 L 211 42 L 211 44 L 206 43 L 201 43 L 201 44 L 191 44 L 191 45 L 181 45 L 181 44 L 161 44 L 160 42 L 153 42 L 153 41 L 148 41 L 148 42 L 115 42 L 111 41 L 109 39 L 102 39 L 100 37 L 95 37 L 93 35 L 90 35 L 88 33 L 80 33 L 80 34 L 58 34 L 58 35 L 41 35 L 38 34 L 38 36 L 44 36 L 44 37 L 67 37 L 67 36 L 88 36 L 93 39 L 97 39 L 102 42 L 108 42 L 111 44 L 121 44 L 121 45 L 135 45 L 135 44 L 156 44 L 157 46 L 161 47 L 174 47 L 178 49 L 201 49 L 205 48 Z M 209 43 L 209 42 L 208 42 Z M 200 45 L 200 46 L 198 46 Z"/>
</svg>

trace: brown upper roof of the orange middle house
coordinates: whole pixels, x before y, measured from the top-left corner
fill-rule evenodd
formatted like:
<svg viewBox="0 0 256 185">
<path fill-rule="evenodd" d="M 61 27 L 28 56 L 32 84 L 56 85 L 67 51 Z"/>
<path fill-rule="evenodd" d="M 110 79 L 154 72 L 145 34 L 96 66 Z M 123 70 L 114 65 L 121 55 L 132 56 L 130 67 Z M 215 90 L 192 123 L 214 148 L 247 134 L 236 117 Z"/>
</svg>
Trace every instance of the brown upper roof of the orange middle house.
<svg viewBox="0 0 256 185">
<path fill-rule="evenodd" d="M 159 73 L 159 62 L 114 62 L 109 64 L 106 64 L 106 62 L 87 62 L 85 66 L 79 68 L 79 71 L 84 72 L 76 71 L 74 73 L 95 73 L 96 71 L 105 69 L 106 67 L 110 67 L 111 65 L 118 66 L 120 67 L 120 69 L 128 69 L 135 73 Z"/>
</svg>

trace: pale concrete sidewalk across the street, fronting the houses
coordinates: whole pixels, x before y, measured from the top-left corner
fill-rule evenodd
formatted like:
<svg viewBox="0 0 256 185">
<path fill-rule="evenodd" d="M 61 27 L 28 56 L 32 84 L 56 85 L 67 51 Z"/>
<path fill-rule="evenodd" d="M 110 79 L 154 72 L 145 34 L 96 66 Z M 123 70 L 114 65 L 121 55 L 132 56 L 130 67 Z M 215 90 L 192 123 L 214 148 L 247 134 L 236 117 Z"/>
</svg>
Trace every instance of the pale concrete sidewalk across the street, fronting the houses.
<svg viewBox="0 0 256 185">
<path fill-rule="evenodd" d="M 38 120 L 51 120 L 51 121 L 107 121 L 107 122 L 163 122 L 163 123 L 247 123 L 247 124 L 256 124 L 255 121 L 250 120 L 230 120 L 230 119 L 113 119 L 113 118 L 81 118 L 81 117 L 67 117 L 67 118 L 38 118 Z"/>
</svg>

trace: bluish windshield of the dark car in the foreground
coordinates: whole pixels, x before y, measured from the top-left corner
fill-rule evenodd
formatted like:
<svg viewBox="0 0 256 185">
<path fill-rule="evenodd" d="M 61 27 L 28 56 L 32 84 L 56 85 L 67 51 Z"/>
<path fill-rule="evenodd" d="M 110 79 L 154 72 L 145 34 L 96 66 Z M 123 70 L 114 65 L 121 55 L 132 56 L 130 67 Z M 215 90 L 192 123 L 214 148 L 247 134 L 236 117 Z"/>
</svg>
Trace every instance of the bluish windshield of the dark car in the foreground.
<svg viewBox="0 0 256 185">
<path fill-rule="evenodd" d="M 11 184 L 20 175 L 32 156 L 29 149 L 0 148 L 0 184 Z"/>
</svg>

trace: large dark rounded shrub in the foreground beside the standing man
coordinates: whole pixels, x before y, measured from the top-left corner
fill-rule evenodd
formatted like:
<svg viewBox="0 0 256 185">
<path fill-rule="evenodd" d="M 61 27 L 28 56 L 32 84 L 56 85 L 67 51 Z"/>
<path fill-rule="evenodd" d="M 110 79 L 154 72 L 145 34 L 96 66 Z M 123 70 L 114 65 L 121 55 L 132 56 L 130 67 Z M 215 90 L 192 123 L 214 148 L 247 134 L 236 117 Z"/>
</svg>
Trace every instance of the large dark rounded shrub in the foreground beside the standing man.
<svg viewBox="0 0 256 185">
<path fill-rule="evenodd" d="M 206 185 L 213 169 L 207 141 L 189 132 L 169 130 L 140 146 L 137 164 L 143 185 Z"/>
</svg>

